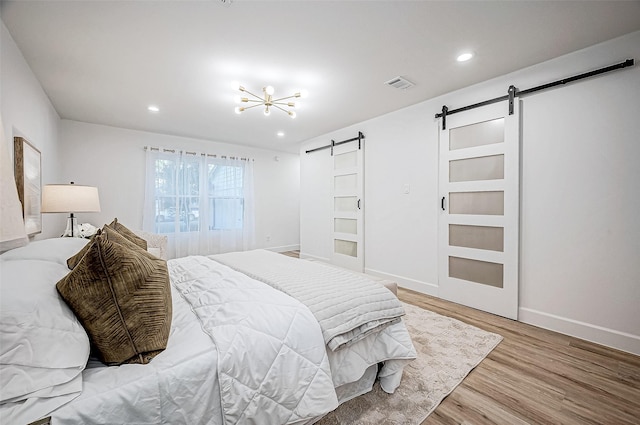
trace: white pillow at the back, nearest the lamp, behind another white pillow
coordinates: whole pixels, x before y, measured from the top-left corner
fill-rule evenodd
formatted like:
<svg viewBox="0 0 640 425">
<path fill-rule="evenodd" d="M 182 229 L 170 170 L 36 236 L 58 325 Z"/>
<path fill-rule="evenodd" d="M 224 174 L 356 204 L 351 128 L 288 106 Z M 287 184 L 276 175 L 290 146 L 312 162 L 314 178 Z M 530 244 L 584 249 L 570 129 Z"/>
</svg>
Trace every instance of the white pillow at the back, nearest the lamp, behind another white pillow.
<svg viewBox="0 0 640 425">
<path fill-rule="evenodd" d="M 33 241 L 27 246 L 12 249 L 0 255 L 0 261 L 42 260 L 59 263 L 66 267 L 67 258 L 77 254 L 87 242 L 89 239 L 84 238 L 52 238 Z M 68 268 L 67 271 L 69 271 Z M 53 282 L 54 286 L 56 282 Z"/>
</svg>

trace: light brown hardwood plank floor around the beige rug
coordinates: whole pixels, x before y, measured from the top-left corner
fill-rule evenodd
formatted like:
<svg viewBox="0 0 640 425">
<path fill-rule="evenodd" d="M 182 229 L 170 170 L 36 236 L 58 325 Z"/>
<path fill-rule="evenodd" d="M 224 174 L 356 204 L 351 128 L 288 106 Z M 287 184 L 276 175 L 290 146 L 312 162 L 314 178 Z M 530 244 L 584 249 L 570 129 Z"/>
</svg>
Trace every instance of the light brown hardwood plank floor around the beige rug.
<svg viewBox="0 0 640 425">
<path fill-rule="evenodd" d="M 398 297 L 504 337 L 421 425 L 640 425 L 639 356 L 408 289 Z"/>
</svg>

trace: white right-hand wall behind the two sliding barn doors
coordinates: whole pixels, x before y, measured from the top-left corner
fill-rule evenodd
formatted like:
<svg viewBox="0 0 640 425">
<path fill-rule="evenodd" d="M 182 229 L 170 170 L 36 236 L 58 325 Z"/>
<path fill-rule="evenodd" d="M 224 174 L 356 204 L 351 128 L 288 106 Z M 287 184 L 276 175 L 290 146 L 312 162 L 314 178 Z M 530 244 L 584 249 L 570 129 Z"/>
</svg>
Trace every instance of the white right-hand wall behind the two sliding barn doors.
<svg viewBox="0 0 640 425">
<path fill-rule="evenodd" d="M 331 139 L 365 141 L 365 269 L 437 295 L 438 122 L 450 109 L 640 59 L 640 32 L 318 137 L 301 251 L 328 258 Z M 640 354 L 640 66 L 522 98 L 521 321 Z M 410 193 L 403 194 L 403 186 Z"/>
</svg>

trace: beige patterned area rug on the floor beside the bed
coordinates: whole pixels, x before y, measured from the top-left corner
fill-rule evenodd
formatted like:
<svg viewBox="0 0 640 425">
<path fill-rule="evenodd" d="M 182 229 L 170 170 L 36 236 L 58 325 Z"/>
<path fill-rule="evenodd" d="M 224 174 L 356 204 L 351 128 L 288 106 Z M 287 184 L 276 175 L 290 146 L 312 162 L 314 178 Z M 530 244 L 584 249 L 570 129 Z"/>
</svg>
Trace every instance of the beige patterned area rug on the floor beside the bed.
<svg viewBox="0 0 640 425">
<path fill-rule="evenodd" d="M 419 425 L 502 341 L 498 334 L 403 304 L 418 357 L 405 367 L 400 387 L 387 394 L 376 383 L 317 425 Z"/>
</svg>

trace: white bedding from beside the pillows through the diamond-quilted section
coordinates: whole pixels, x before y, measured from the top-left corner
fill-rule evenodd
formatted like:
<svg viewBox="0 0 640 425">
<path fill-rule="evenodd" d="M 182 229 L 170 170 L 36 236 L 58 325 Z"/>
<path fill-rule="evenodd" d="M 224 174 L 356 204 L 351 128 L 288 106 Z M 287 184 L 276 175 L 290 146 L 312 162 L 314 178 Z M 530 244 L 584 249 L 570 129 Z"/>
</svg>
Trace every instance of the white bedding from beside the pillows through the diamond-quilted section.
<svg viewBox="0 0 640 425">
<path fill-rule="evenodd" d="M 167 265 L 167 349 L 148 365 L 88 368 L 82 394 L 53 412 L 53 425 L 302 424 L 337 407 L 306 307 L 205 257 Z"/>
</svg>

